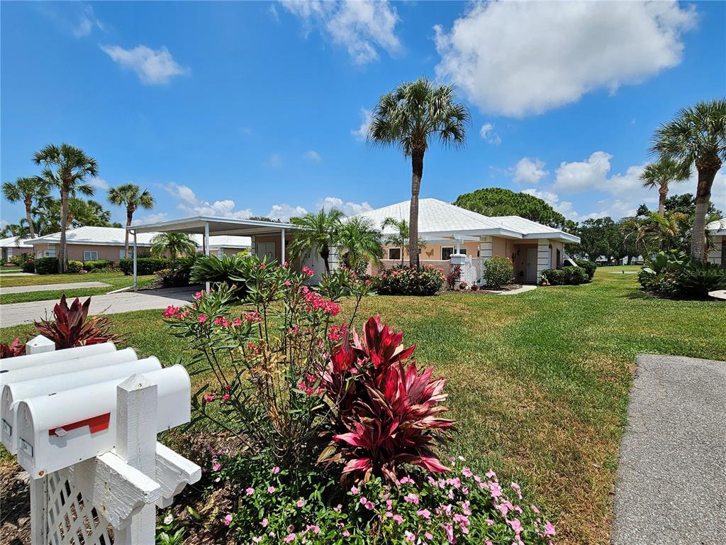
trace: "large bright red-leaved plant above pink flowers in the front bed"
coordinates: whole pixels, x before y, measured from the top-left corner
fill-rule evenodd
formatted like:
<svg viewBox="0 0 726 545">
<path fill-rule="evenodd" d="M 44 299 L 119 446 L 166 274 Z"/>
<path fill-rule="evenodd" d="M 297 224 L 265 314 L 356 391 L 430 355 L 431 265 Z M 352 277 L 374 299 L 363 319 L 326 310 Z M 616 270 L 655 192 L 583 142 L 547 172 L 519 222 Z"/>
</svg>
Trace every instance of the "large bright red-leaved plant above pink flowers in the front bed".
<svg viewBox="0 0 726 545">
<path fill-rule="evenodd" d="M 395 481 L 404 464 L 430 472 L 446 472 L 438 445 L 454 421 L 440 418 L 445 379 L 432 379 L 408 358 L 416 349 L 404 347 L 403 333 L 370 318 L 363 338 L 353 332 L 333 349 L 322 385 L 333 400 L 334 428 L 319 461 L 344 463 L 343 478 L 379 475 Z"/>
</svg>

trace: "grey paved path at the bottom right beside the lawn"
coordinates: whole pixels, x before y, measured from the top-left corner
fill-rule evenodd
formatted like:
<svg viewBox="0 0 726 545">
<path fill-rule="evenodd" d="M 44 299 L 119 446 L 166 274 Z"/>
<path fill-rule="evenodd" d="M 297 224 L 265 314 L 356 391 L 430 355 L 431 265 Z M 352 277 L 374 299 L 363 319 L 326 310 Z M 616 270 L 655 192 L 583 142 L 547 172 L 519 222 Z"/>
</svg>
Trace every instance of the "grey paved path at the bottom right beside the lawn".
<svg viewBox="0 0 726 545">
<path fill-rule="evenodd" d="M 726 362 L 639 355 L 613 545 L 726 542 Z"/>
</svg>

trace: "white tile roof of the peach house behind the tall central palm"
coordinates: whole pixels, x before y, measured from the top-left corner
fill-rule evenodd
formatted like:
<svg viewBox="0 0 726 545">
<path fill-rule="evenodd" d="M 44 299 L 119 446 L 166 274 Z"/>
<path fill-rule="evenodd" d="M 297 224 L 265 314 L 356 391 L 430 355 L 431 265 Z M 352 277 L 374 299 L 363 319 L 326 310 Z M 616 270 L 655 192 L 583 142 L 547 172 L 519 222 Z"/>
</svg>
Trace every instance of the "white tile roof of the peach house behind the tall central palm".
<svg viewBox="0 0 726 545">
<path fill-rule="evenodd" d="M 384 206 L 383 208 L 356 214 L 356 217 L 370 219 L 377 229 L 381 229 L 387 217 L 396 220 L 409 219 L 411 201 Z M 529 238 L 529 235 L 547 234 L 548 238 L 563 238 L 579 242 L 574 235 L 562 230 L 547 227 L 519 216 L 489 217 L 463 209 L 460 206 L 439 201 L 436 198 L 422 198 L 419 201 L 418 232 L 427 235 L 455 234 L 462 235 L 503 235 L 513 238 Z M 384 234 L 393 233 L 392 227 L 386 227 Z M 544 237 L 543 237 L 544 238 Z"/>
</svg>

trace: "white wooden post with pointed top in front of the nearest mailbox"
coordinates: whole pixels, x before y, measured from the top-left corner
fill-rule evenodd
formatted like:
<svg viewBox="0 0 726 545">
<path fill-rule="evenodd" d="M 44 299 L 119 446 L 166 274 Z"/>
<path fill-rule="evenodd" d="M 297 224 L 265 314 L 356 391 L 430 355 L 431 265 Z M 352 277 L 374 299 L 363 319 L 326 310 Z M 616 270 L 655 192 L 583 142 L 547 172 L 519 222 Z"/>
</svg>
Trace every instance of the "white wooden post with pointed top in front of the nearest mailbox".
<svg viewBox="0 0 726 545">
<path fill-rule="evenodd" d="M 147 477 L 156 477 L 157 386 L 143 375 L 118 385 L 116 400 L 116 454 Z M 115 530 L 117 545 L 153 544 L 156 507 L 145 505 L 128 528 Z"/>
</svg>

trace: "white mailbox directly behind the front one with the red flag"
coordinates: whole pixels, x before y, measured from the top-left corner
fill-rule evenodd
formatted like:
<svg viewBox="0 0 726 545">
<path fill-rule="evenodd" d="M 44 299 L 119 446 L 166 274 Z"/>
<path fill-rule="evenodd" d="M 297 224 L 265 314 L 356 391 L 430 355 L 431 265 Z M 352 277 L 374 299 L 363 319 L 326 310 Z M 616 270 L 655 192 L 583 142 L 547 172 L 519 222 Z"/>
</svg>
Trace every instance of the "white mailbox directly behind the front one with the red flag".
<svg viewBox="0 0 726 545">
<path fill-rule="evenodd" d="M 130 354 L 134 351 L 128 349 Z M 113 355 L 120 355 L 125 350 L 119 350 Z M 58 368 L 62 368 L 60 363 Z M 88 386 L 98 382 L 117 380 L 121 384 L 124 379 L 136 373 L 149 373 L 158 371 L 161 363 L 157 358 L 144 360 L 130 360 L 115 366 L 104 366 L 75 373 L 62 373 L 46 376 L 41 379 L 30 379 L 5 384 L 0 389 L 0 439 L 11 454 L 17 453 L 17 405 L 20 400 L 41 395 L 54 395 L 64 390 Z"/>
</svg>

